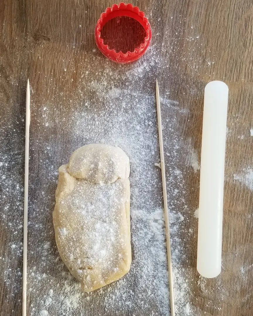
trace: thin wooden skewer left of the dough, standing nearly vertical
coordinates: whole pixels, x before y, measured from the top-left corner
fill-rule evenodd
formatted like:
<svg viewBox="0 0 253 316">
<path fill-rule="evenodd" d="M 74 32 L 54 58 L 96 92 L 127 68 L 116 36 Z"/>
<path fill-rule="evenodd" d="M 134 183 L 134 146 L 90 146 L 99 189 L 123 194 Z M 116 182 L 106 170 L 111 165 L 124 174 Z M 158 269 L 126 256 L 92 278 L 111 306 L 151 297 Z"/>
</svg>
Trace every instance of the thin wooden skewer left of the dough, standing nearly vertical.
<svg viewBox="0 0 253 316">
<path fill-rule="evenodd" d="M 25 198 L 24 198 L 24 242 L 23 242 L 23 305 L 22 315 L 26 316 L 27 285 L 27 222 L 28 222 L 28 172 L 29 172 L 29 129 L 30 129 L 30 85 L 26 89 L 26 144 L 25 144 Z"/>
</svg>

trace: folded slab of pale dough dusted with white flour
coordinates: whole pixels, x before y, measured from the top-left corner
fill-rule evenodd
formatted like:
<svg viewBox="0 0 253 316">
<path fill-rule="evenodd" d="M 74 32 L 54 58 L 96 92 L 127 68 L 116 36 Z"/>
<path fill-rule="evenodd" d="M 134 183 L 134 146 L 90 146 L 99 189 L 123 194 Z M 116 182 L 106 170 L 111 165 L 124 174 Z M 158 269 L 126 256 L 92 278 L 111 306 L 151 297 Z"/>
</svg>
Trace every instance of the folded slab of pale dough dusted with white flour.
<svg viewBox="0 0 253 316">
<path fill-rule="evenodd" d="M 59 254 L 90 292 L 131 264 L 129 158 L 118 147 L 83 146 L 59 168 L 53 224 Z"/>
</svg>

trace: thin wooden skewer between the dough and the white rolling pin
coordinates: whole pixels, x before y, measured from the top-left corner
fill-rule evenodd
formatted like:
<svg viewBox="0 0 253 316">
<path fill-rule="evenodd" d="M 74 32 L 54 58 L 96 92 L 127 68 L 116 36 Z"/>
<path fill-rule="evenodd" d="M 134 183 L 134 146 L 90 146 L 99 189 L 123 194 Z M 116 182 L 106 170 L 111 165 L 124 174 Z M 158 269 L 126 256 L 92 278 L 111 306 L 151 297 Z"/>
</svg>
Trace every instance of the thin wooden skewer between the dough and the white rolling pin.
<svg viewBox="0 0 253 316">
<path fill-rule="evenodd" d="M 157 79 L 156 79 L 156 105 L 157 105 L 157 119 L 158 119 L 161 169 L 162 169 L 163 195 L 164 195 L 164 219 L 165 219 L 165 230 L 166 230 L 166 245 L 167 245 L 169 286 L 170 286 L 170 312 L 171 312 L 171 316 L 175 316 L 173 273 L 172 273 L 172 261 L 171 261 L 171 249 L 170 249 L 170 222 L 169 222 L 165 165 L 164 165 L 164 145 L 163 145 L 162 118 L 161 118 L 161 107 L 160 107 L 160 94 L 159 94 Z"/>
</svg>

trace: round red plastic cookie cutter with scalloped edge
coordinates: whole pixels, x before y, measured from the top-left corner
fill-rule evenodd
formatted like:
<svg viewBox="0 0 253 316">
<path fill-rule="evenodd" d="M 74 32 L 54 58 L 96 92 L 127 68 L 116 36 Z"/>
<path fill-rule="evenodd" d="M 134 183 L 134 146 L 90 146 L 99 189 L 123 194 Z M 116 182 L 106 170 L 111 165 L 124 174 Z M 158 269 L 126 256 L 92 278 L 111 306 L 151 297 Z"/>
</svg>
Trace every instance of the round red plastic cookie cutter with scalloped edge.
<svg viewBox="0 0 253 316">
<path fill-rule="evenodd" d="M 138 21 L 145 29 L 146 37 L 144 39 L 144 43 L 141 43 L 140 46 L 135 48 L 133 52 L 115 52 L 114 49 L 109 49 L 108 45 L 105 45 L 103 39 L 101 38 L 102 27 L 106 24 L 106 22 L 117 16 L 129 16 Z M 111 8 L 107 8 L 98 19 L 95 27 L 95 40 L 99 50 L 110 60 L 116 63 L 131 63 L 141 57 L 147 50 L 151 41 L 151 27 L 148 19 L 138 7 L 133 7 L 130 3 L 120 3 L 119 5 L 114 4 Z"/>
</svg>

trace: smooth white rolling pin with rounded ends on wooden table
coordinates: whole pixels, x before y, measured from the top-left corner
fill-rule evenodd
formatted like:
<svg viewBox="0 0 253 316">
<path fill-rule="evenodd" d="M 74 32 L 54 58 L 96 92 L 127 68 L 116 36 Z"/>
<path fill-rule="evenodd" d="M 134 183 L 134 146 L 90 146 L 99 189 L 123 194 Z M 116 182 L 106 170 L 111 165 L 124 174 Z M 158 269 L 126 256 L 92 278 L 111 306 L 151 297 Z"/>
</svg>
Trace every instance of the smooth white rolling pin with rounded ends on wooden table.
<svg viewBox="0 0 253 316">
<path fill-rule="evenodd" d="M 212 278 L 221 271 L 223 187 L 228 87 L 205 87 L 200 168 L 197 270 Z"/>
</svg>

